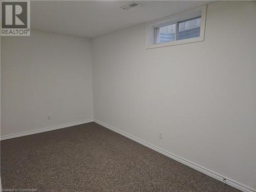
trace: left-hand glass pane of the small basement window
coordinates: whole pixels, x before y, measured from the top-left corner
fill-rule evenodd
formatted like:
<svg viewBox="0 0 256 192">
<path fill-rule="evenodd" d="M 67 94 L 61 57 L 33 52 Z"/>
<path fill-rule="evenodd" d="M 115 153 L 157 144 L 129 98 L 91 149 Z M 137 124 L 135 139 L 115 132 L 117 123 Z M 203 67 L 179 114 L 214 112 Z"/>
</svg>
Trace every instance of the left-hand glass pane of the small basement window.
<svg viewBox="0 0 256 192">
<path fill-rule="evenodd" d="M 155 44 L 175 40 L 176 24 L 156 28 Z"/>
</svg>

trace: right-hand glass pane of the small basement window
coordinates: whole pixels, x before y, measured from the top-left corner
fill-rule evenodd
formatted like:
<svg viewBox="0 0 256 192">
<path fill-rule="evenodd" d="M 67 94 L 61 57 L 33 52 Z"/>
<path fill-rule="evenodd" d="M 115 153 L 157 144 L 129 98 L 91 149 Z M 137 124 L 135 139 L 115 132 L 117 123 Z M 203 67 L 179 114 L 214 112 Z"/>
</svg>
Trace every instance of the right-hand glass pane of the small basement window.
<svg viewBox="0 0 256 192">
<path fill-rule="evenodd" d="M 201 17 L 179 22 L 178 40 L 200 36 Z"/>
</svg>

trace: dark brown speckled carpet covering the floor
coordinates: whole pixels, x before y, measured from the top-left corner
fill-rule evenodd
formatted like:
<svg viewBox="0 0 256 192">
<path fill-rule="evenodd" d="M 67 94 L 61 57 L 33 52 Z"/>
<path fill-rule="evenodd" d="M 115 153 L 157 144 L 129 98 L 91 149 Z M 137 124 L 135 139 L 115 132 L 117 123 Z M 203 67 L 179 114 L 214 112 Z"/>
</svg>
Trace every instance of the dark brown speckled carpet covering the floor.
<svg viewBox="0 0 256 192">
<path fill-rule="evenodd" d="M 240 191 L 94 122 L 1 141 L 3 188 Z"/>
</svg>

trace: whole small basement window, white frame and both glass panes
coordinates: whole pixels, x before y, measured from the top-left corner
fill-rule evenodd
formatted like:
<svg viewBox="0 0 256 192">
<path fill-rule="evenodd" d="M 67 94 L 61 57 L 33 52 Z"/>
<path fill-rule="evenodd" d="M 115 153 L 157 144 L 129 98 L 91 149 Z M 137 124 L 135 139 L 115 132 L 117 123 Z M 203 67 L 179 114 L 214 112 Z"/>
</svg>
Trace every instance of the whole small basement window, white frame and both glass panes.
<svg viewBox="0 0 256 192">
<path fill-rule="evenodd" d="M 146 24 L 146 49 L 204 40 L 206 5 Z"/>
</svg>

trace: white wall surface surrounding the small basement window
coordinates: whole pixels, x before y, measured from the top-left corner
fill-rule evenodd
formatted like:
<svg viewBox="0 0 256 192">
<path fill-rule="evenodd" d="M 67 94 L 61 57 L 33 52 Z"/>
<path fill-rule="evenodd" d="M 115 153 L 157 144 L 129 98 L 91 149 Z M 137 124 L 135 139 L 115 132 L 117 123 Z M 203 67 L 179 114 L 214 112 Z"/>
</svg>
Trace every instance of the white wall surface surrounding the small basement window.
<svg viewBox="0 0 256 192">
<path fill-rule="evenodd" d="M 203 42 L 145 50 L 145 25 L 93 39 L 94 118 L 256 189 L 255 7 L 210 4 Z"/>
</svg>

